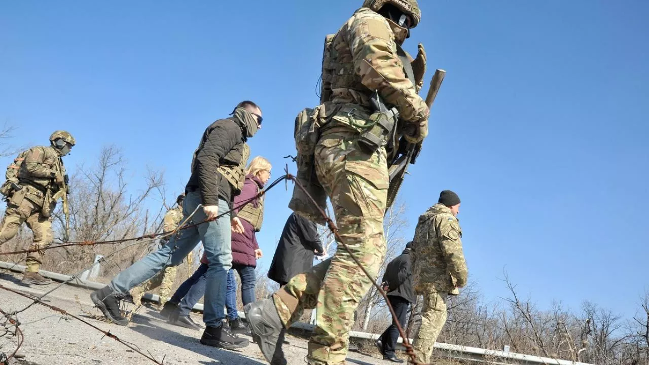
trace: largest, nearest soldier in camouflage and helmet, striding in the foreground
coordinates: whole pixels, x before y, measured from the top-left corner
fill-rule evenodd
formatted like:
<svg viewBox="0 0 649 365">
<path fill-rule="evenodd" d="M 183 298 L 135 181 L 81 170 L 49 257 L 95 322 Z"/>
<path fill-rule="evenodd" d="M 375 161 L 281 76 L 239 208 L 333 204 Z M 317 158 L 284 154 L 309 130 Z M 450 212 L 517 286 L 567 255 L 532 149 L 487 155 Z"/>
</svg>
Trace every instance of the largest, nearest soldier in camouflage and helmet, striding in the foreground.
<svg viewBox="0 0 649 365">
<path fill-rule="evenodd" d="M 399 55 L 400 45 L 419 19 L 415 0 L 366 0 L 335 35 L 325 38 L 321 104 L 302 110 L 296 118 L 297 176 L 311 176 L 312 160 L 313 175 L 334 207 L 339 234 L 372 278 L 338 245 L 334 257 L 296 275 L 271 298 L 244 307 L 253 338 L 271 364 L 286 363 L 280 351 L 284 329 L 306 308 L 316 308 L 317 313 L 307 362 L 345 363 L 354 310 L 376 279 L 386 253 L 386 143 L 393 137 L 389 124 L 394 121 L 373 109 L 371 99 L 378 95 L 396 108 L 401 118 L 397 134 L 408 131 L 404 134 L 408 142 L 419 143 L 428 134 L 430 112 L 416 88 L 421 80 L 406 76 L 406 71 L 411 73 L 411 58 Z M 417 62 L 422 64 L 422 47 L 420 53 Z M 418 71 L 423 77 L 422 69 Z M 301 135 L 302 125 L 313 128 Z M 299 147 L 301 142 L 307 142 L 306 148 Z M 289 207 L 315 220 L 317 214 L 301 212 L 308 205 Z"/>
</svg>

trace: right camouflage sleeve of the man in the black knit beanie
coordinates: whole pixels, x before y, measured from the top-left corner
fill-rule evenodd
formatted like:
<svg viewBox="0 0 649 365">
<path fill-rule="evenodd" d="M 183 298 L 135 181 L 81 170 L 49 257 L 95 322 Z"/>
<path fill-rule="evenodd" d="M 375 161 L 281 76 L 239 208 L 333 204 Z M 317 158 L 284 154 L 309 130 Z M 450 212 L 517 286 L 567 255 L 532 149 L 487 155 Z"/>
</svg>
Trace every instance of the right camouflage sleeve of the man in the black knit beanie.
<svg viewBox="0 0 649 365">
<path fill-rule="evenodd" d="M 455 286 L 461 288 L 467 284 L 469 271 L 464 260 L 462 241 L 459 237 L 459 224 L 451 216 L 439 216 L 435 222 L 437 239 L 441 248 L 448 272 L 453 278 Z"/>
</svg>

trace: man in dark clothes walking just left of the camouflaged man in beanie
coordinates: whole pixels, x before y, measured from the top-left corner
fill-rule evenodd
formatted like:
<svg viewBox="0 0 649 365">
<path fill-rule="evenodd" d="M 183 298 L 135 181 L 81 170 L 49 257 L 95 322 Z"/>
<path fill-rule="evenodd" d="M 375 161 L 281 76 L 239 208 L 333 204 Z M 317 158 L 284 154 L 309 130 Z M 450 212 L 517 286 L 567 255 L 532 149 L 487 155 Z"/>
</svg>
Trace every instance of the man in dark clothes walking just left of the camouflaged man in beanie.
<svg viewBox="0 0 649 365">
<path fill-rule="evenodd" d="M 406 325 L 406 314 L 410 303 L 415 303 L 415 290 L 413 288 L 412 271 L 410 270 L 410 247 L 412 242 L 406 244 L 406 249 L 397 258 L 387 264 L 386 273 L 383 275 L 384 290 L 387 299 L 397 314 L 397 319 L 402 328 Z M 393 322 L 390 327 L 376 340 L 376 347 L 382 353 L 384 360 L 404 362 L 395 355 L 399 331 Z"/>
</svg>

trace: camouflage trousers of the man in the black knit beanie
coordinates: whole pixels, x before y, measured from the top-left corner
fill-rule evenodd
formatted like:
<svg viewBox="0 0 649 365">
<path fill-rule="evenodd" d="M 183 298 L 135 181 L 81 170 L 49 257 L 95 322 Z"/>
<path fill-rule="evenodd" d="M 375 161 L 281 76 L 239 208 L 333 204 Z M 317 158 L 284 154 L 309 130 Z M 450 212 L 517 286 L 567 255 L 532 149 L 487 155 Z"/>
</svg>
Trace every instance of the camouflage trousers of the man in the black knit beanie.
<svg viewBox="0 0 649 365">
<path fill-rule="evenodd" d="M 421 327 L 413 339 L 417 361 L 428 364 L 437 336 L 442 331 L 447 318 L 447 292 L 424 292 L 421 309 Z"/>
</svg>

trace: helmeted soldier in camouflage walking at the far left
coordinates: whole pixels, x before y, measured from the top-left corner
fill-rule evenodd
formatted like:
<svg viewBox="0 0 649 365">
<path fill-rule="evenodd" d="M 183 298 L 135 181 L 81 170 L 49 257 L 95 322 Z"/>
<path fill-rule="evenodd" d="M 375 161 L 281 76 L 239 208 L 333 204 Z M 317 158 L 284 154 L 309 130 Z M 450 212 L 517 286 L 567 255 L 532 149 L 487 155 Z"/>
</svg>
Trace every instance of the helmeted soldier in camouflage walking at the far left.
<svg viewBox="0 0 649 365">
<path fill-rule="evenodd" d="M 49 142 L 49 146 L 21 152 L 7 169 L 7 179 L 0 188 L 7 202 L 5 218 L 0 223 L 0 245 L 14 238 L 23 222 L 34 234 L 29 249 L 41 249 L 53 240 L 51 215 L 56 201 L 67 194 L 67 175 L 61 157 L 75 145 L 75 138 L 66 131 L 55 131 Z M 42 258 L 42 251 L 27 255 L 23 284 L 51 283 L 38 273 Z"/>
</svg>

